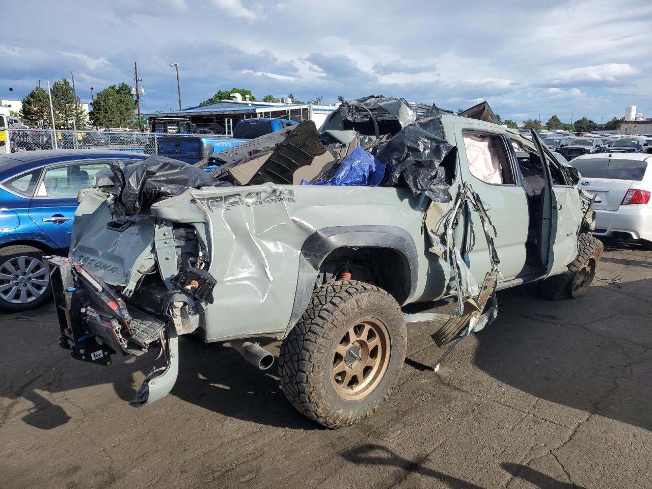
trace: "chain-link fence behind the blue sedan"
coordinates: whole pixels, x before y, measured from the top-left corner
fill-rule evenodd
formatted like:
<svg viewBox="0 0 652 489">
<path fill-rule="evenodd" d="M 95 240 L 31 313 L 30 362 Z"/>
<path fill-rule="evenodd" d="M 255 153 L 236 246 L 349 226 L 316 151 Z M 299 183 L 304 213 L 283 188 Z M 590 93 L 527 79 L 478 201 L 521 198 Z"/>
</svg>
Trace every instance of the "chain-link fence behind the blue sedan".
<svg viewBox="0 0 652 489">
<path fill-rule="evenodd" d="M 160 138 L 188 138 L 196 134 L 158 134 L 130 131 L 71 131 L 51 129 L 10 129 L 12 153 L 38 149 L 112 149 L 158 154 Z M 220 137 L 220 136 L 212 136 Z"/>
</svg>

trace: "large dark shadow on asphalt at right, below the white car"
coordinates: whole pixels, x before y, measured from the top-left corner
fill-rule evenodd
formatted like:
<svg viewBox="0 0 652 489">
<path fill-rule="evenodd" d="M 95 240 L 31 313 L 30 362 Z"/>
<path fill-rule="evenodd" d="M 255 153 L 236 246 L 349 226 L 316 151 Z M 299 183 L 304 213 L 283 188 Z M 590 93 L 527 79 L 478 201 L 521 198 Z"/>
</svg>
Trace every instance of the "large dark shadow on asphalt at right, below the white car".
<svg viewBox="0 0 652 489">
<path fill-rule="evenodd" d="M 538 398 L 652 430 L 652 280 L 552 303 L 535 286 L 498 297 L 498 319 L 477 334 L 478 368 Z"/>
</svg>

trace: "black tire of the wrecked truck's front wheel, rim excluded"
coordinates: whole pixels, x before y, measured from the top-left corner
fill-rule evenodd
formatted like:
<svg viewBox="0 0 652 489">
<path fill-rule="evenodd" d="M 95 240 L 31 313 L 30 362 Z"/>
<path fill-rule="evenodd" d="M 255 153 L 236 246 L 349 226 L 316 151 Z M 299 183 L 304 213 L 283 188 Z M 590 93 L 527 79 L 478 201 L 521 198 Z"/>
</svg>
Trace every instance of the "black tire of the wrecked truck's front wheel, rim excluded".
<svg viewBox="0 0 652 489">
<path fill-rule="evenodd" d="M 600 261 L 600 256 L 602 256 L 604 245 L 602 244 L 602 241 L 599 241 L 599 239 L 587 234 L 580 234 L 578 242 L 580 252 L 577 258 L 568 265 L 567 271 L 539 281 L 539 292 L 546 299 L 550 301 L 576 299 L 577 297 L 580 297 L 580 295 L 582 295 L 582 293 L 584 293 L 591 285 L 591 282 L 593 282 L 595 268 Z M 582 267 L 587 263 L 592 267 L 593 272 L 589 274 L 587 277 L 587 283 L 581 290 L 574 289 L 573 282 L 576 275 L 580 273 Z"/>
</svg>

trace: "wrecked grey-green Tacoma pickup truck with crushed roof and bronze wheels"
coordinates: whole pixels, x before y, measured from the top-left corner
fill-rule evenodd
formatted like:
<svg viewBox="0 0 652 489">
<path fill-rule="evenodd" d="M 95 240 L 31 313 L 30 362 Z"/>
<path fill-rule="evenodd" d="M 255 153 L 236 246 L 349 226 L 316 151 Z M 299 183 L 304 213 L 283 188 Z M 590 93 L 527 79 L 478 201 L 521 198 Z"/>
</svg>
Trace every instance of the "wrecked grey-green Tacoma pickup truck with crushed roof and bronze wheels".
<svg viewBox="0 0 652 489">
<path fill-rule="evenodd" d="M 433 321 L 438 366 L 496 318 L 497 290 L 539 281 L 562 299 L 591 284 L 592 196 L 531 137 L 486 103 L 453 115 L 370 96 L 320 130 L 98 175 L 69 257 L 48 261 L 61 346 L 102 365 L 158 349 L 143 406 L 170 393 L 180 335 L 261 369 L 273 357 L 259 342 L 282 340 L 295 408 L 330 428 L 364 419 L 398 381 L 406 324 Z"/>
</svg>

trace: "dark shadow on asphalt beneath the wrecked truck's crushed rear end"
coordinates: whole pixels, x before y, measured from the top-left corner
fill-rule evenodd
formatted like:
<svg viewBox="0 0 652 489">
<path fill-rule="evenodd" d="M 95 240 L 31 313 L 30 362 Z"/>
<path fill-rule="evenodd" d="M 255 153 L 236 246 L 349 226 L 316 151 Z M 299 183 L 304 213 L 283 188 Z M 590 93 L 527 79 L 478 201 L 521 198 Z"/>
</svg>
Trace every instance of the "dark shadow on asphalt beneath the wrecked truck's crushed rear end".
<svg viewBox="0 0 652 489">
<path fill-rule="evenodd" d="M 8 315 L 12 334 L 8 334 L 0 346 L 0 355 L 12 355 L 0 385 L 0 396 L 8 402 L 0 410 L 0 419 L 8 414 L 23 398 L 32 404 L 23 421 L 42 430 L 51 430 L 70 421 L 62 406 L 48 399 L 43 393 L 62 394 L 74 389 L 109 384 L 126 402 L 135 394 L 135 388 L 153 366 L 162 364 L 156 360 L 156 351 L 135 358 L 115 355 L 113 365 L 99 366 L 73 360 L 69 353 L 59 347 L 58 327 L 55 325 L 53 308 L 45 306 L 25 314 Z M 42 325 L 38 317 L 46 316 L 48 323 Z M 33 355 L 34 364 L 25 367 L 20 361 Z M 181 338 L 179 341 L 181 368 L 177 383 L 170 396 L 209 409 L 226 417 L 244 419 L 270 426 L 316 430 L 321 427 L 299 415 L 286 400 L 280 389 L 276 365 L 267 372 L 246 363 L 233 349 L 223 344 L 201 344 L 196 340 Z M 12 372 L 12 368 L 16 371 Z M 25 372 L 27 370 L 27 372 Z M 20 379 L 20 380 L 19 380 Z M 156 409 L 160 401 L 144 408 Z M 25 411 L 23 411 L 25 412 Z"/>
</svg>

